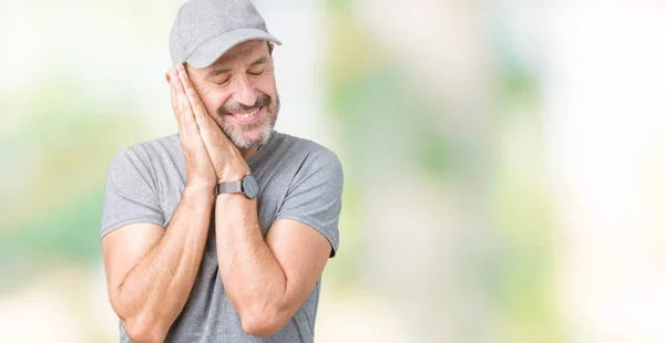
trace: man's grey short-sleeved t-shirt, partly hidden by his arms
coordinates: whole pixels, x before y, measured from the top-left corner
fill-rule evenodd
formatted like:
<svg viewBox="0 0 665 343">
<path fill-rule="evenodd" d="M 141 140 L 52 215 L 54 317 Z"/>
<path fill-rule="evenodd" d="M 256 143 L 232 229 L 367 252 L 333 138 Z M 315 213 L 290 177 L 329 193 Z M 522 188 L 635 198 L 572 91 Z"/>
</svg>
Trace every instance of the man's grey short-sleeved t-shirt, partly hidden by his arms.
<svg viewBox="0 0 665 343">
<path fill-rule="evenodd" d="M 310 141 L 273 132 L 247 164 L 259 185 L 258 221 L 266 236 L 287 218 L 339 245 L 342 172 L 337 156 Z M 120 150 L 109 168 L 102 237 L 134 222 L 168 226 L 185 187 L 185 162 L 177 134 Z M 291 320 L 276 334 L 259 339 L 243 331 L 218 272 L 214 218 L 190 299 L 165 342 L 313 342 L 320 279 Z M 120 341 L 130 342 L 122 326 Z"/>
</svg>

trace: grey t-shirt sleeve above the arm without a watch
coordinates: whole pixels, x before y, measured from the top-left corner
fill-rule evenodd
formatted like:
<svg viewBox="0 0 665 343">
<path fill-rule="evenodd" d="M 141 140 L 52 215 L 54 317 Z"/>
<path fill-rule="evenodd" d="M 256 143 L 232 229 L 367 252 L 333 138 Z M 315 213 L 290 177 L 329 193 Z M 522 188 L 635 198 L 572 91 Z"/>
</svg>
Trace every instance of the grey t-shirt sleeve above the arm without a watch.
<svg viewBox="0 0 665 343">
<path fill-rule="evenodd" d="M 106 174 L 101 237 L 135 222 L 164 225 L 147 154 L 125 148 L 113 157 Z"/>
</svg>

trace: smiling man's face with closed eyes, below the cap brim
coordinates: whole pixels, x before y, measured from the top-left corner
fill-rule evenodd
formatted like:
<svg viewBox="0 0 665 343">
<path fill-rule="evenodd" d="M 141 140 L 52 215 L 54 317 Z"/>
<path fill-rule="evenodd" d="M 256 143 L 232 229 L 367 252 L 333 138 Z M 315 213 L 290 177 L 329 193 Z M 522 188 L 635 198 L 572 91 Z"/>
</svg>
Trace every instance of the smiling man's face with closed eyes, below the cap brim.
<svg viewBox="0 0 665 343">
<path fill-rule="evenodd" d="M 279 97 L 265 41 L 241 43 L 206 69 L 185 67 L 205 108 L 238 149 L 269 138 Z"/>
</svg>

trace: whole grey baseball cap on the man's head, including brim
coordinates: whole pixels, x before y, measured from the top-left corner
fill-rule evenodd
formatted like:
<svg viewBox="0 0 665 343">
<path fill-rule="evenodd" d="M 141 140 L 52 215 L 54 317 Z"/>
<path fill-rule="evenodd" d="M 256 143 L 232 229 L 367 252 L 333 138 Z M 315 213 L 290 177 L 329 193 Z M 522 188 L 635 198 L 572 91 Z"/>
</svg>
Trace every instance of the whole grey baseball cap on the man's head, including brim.
<svg viewBox="0 0 665 343">
<path fill-rule="evenodd" d="M 204 69 L 233 46 L 253 40 L 282 44 L 249 0 L 191 0 L 175 15 L 168 50 L 173 65 L 186 62 Z"/>
</svg>

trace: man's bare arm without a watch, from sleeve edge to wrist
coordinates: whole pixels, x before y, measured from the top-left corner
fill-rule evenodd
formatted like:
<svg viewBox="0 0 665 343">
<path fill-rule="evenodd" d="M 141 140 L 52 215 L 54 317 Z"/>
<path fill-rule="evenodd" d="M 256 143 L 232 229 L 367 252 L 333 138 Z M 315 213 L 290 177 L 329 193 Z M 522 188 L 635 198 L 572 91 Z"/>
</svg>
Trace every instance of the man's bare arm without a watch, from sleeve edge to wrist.
<svg viewBox="0 0 665 343">
<path fill-rule="evenodd" d="M 185 188 L 168 228 L 122 227 L 102 239 L 109 299 L 133 342 L 162 342 L 183 310 L 207 238 L 213 191 Z"/>
</svg>

